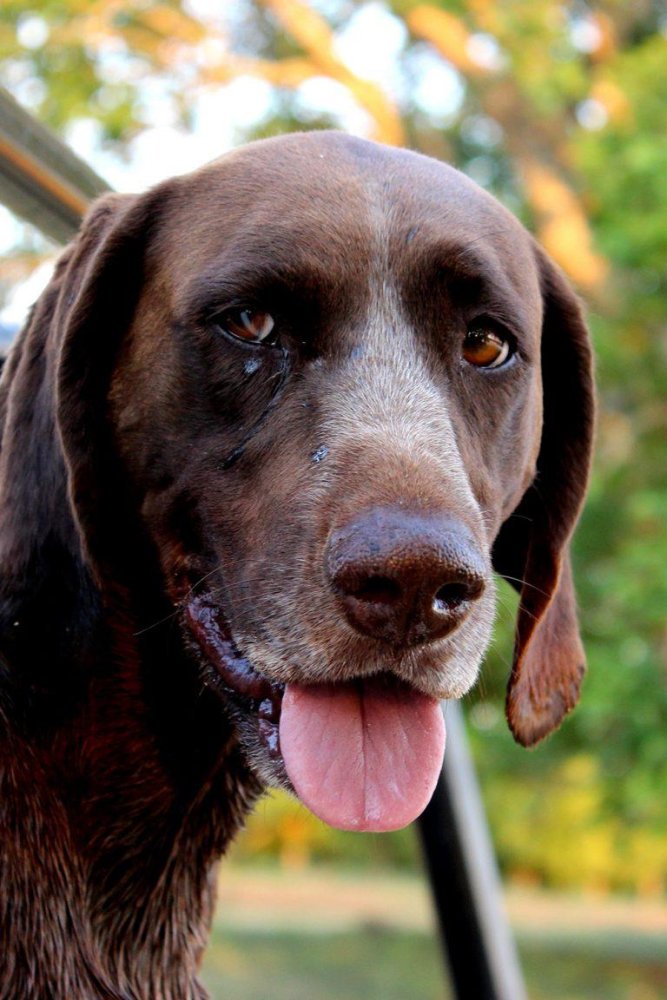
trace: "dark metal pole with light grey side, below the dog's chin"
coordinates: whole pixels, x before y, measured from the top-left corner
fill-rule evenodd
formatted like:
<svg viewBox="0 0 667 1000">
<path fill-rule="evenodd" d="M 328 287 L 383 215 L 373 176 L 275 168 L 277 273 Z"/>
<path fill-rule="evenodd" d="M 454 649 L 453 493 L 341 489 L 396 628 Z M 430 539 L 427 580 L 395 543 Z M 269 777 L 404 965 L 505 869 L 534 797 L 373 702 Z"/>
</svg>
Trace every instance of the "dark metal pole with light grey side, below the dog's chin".
<svg viewBox="0 0 667 1000">
<path fill-rule="evenodd" d="M 418 825 L 455 995 L 526 1000 L 463 715 L 443 708 L 445 764 Z"/>
</svg>

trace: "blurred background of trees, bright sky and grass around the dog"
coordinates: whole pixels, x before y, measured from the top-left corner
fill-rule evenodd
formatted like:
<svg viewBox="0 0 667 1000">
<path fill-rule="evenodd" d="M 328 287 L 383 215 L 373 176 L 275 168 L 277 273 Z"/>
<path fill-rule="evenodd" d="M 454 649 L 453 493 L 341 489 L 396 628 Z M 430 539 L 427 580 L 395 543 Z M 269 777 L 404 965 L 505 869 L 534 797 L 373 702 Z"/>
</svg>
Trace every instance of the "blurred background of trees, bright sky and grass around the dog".
<svg viewBox="0 0 667 1000">
<path fill-rule="evenodd" d="M 503 694 L 515 599 L 465 711 L 529 992 L 667 996 L 667 7 L 651 0 L 2 0 L 0 84 L 139 190 L 248 139 L 342 128 L 454 163 L 587 303 L 601 412 L 575 545 L 589 675 L 537 750 Z M 0 208 L 0 338 L 54 245 Z M 267 798 L 225 862 L 217 997 L 446 995 L 414 831 Z"/>
</svg>

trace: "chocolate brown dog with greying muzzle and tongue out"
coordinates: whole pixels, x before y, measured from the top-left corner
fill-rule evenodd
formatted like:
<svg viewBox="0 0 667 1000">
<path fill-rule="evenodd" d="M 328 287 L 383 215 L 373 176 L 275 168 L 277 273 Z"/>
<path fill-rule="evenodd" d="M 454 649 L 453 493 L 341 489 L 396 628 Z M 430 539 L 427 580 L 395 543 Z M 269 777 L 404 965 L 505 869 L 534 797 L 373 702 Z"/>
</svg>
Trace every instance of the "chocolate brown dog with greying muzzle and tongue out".
<svg viewBox="0 0 667 1000">
<path fill-rule="evenodd" d="M 463 174 L 335 132 L 108 195 L 0 383 L 5 1000 L 188 1000 L 267 786 L 428 801 L 493 570 L 531 745 L 584 670 L 578 301 Z"/>
</svg>

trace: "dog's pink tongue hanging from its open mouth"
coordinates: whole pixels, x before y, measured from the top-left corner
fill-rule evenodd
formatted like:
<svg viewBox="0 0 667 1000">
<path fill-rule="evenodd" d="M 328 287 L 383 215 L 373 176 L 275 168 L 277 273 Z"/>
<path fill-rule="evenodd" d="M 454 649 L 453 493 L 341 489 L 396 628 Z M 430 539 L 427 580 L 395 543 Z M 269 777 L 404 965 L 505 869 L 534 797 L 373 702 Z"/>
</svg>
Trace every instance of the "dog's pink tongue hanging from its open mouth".
<svg viewBox="0 0 667 1000">
<path fill-rule="evenodd" d="M 330 826 L 398 830 L 433 794 L 445 724 L 437 701 L 398 684 L 288 684 L 280 749 L 297 795 Z"/>
</svg>

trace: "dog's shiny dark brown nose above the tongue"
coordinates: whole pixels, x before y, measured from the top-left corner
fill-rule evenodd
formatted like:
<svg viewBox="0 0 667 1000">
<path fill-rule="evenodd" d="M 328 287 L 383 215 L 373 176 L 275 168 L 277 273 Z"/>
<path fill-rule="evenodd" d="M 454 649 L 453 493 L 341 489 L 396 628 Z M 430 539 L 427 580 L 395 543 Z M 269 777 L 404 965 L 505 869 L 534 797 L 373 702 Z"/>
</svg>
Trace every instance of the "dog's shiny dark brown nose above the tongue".
<svg viewBox="0 0 667 1000">
<path fill-rule="evenodd" d="M 362 635 L 414 646 L 456 628 L 486 583 L 464 524 L 447 515 L 375 508 L 332 532 L 329 584 Z"/>
</svg>

